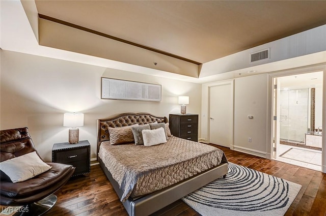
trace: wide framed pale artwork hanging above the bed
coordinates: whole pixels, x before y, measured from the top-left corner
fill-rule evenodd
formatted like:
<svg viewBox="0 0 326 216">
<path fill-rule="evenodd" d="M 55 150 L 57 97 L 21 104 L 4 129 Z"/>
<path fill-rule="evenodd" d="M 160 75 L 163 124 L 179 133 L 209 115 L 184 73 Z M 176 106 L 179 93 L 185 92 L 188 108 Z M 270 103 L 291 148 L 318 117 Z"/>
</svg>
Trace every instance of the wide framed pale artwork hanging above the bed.
<svg viewBox="0 0 326 216">
<path fill-rule="evenodd" d="M 161 85 L 101 77 L 101 99 L 160 102 Z"/>
</svg>

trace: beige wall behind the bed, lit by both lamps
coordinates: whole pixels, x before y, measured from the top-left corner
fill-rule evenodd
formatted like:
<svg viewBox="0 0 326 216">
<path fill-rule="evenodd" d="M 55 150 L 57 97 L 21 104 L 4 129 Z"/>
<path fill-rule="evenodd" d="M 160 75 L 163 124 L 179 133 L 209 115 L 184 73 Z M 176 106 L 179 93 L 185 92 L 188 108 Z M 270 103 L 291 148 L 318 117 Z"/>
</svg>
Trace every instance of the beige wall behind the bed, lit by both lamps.
<svg viewBox="0 0 326 216">
<path fill-rule="evenodd" d="M 160 84 L 162 101 L 101 100 L 101 77 Z M 63 127 L 66 112 L 85 114 L 79 140 L 89 140 L 91 158 L 96 157 L 98 118 L 123 112 L 169 116 L 180 112 L 179 95 L 190 97 L 187 113 L 201 112 L 200 84 L 4 50 L 0 87 L 0 129 L 29 127 L 45 161 L 51 161 L 53 143 L 68 141 L 68 128 Z"/>
</svg>

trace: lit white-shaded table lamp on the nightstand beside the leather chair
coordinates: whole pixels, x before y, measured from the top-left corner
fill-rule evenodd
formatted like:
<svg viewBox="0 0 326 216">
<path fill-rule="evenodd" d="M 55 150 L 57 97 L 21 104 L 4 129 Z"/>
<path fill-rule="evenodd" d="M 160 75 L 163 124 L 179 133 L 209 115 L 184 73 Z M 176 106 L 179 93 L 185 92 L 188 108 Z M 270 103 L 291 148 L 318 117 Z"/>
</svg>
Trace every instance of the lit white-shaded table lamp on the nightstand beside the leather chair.
<svg viewBox="0 0 326 216">
<path fill-rule="evenodd" d="M 74 144 L 79 141 L 79 129 L 84 126 L 84 114 L 82 113 L 65 113 L 63 115 L 63 127 L 69 128 L 69 143 Z"/>
</svg>

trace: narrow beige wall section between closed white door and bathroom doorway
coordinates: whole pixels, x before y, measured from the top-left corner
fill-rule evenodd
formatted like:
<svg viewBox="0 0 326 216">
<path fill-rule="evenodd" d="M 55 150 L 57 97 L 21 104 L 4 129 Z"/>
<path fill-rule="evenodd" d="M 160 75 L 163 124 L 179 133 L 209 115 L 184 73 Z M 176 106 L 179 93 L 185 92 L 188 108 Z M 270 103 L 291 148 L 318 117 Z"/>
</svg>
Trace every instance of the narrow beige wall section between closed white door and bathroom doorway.
<svg viewBox="0 0 326 216">
<path fill-rule="evenodd" d="M 234 86 L 234 149 L 265 157 L 267 74 L 237 78 Z M 248 142 L 248 138 L 252 138 L 252 142 Z"/>
</svg>

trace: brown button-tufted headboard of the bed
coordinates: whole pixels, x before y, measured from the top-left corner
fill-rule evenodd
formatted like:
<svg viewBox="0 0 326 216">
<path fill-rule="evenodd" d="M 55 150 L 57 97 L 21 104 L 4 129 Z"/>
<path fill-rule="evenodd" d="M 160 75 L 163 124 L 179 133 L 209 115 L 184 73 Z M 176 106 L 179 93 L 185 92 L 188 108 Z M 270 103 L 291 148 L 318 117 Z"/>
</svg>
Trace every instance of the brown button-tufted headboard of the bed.
<svg viewBox="0 0 326 216">
<path fill-rule="evenodd" d="M 110 140 L 110 135 L 108 134 L 108 127 L 124 127 L 134 124 L 144 125 L 157 121 L 168 122 L 167 117 L 157 117 L 150 113 L 122 113 L 114 117 L 98 119 L 98 134 L 97 134 L 97 153 L 101 142 Z"/>
</svg>

